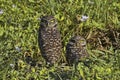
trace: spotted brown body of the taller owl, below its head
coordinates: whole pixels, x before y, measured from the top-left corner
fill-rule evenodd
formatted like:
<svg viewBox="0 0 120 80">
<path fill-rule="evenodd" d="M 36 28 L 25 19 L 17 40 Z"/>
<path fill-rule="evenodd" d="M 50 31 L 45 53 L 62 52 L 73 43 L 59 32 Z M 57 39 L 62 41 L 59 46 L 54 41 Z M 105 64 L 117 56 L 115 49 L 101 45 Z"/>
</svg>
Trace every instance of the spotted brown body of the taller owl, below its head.
<svg viewBox="0 0 120 80">
<path fill-rule="evenodd" d="M 61 57 L 61 36 L 56 28 L 39 29 L 39 46 L 42 56 L 50 63 Z"/>
</svg>

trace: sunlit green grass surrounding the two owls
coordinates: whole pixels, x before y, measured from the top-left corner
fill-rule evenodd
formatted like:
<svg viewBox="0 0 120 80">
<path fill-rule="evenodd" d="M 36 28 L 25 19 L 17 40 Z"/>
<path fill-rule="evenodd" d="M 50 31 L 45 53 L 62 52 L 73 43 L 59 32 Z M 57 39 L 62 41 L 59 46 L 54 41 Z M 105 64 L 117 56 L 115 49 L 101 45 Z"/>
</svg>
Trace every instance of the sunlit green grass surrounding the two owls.
<svg viewBox="0 0 120 80">
<path fill-rule="evenodd" d="M 77 65 L 77 71 L 74 66 L 45 66 L 37 42 L 43 15 L 54 15 L 58 20 L 63 54 L 73 34 L 88 40 L 90 56 Z M 82 15 L 89 18 L 82 22 Z M 116 36 L 110 37 L 113 33 Z M 106 42 L 100 34 L 105 34 L 111 44 L 97 48 L 97 44 Z M 26 63 L 26 56 L 35 59 L 40 67 Z M 67 79 L 120 79 L 119 0 L 0 0 L 0 80 Z"/>
</svg>

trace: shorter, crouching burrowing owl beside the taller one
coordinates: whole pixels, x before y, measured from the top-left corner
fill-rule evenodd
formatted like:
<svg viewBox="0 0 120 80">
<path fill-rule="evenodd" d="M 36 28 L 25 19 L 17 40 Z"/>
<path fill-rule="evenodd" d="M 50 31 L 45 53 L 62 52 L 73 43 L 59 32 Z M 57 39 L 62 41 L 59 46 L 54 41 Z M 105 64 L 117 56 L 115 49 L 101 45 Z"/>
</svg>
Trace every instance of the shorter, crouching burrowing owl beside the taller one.
<svg viewBox="0 0 120 80">
<path fill-rule="evenodd" d="M 86 40 L 81 36 L 72 37 L 66 46 L 66 60 L 73 64 L 88 56 L 86 51 Z"/>
</svg>

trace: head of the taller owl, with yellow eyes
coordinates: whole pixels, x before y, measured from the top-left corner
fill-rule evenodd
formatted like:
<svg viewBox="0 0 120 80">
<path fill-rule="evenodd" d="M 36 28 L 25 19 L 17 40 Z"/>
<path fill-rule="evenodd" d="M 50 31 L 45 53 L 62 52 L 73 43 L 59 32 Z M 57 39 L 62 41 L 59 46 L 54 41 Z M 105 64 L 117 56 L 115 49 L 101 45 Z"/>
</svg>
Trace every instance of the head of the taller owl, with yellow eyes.
<svg viewBox="0 0 120 80">
<path fill-rule="evenodd" d="M 53 16 L 43 16 L 41 18 L 40 26 L 43 28 L 54 28 L 57 26 L 57 20 Z"/>
</svg>

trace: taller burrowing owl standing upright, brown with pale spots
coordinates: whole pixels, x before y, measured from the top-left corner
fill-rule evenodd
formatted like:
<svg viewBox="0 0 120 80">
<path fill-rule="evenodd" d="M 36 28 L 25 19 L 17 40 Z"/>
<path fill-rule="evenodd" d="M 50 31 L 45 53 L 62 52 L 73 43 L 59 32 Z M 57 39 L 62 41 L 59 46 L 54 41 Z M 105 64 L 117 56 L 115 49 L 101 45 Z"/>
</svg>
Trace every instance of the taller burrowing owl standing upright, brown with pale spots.
<svg viewBox="0 0 120 80">
<path fill-rule="evenodd" d="M 62 43 L 60 32 L 57 28 L 57 20 L 53 16 L 41 18 L 38 43 L 42 57 L 49 64 L 60 61 L 62 54 Z"/>
</svg>

